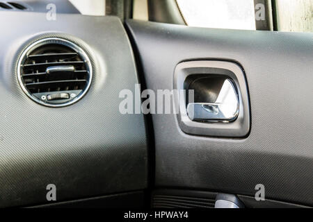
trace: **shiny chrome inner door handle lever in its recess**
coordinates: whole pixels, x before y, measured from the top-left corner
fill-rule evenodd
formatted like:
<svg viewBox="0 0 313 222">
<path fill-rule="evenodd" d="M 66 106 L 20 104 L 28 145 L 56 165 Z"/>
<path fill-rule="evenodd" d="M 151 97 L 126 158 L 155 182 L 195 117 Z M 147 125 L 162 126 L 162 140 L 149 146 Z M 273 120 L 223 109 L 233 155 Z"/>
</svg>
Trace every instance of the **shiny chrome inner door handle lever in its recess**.
<svg viewBox="0 0 313 222">
<path fill-rule="evenodd" d="M 191 120 L 234 121 L 239 114 L 239 99 L 232 81 L 224 81 L 214 103 L 188 103 L 187 114 Z"/>
</svg>

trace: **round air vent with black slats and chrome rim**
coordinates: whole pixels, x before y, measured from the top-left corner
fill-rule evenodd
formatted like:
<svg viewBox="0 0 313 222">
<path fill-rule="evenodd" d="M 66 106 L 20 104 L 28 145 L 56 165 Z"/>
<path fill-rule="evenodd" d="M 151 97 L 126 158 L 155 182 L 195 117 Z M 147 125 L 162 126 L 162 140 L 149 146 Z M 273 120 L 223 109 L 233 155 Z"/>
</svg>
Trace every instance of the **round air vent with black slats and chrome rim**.
<svg viewBox="0 0 313 222">
<path fill-rule="evenodd" d="M 77 102 L 86 94 L 93 75 L 87 54 L 70 41 L 49 37 L 22 53 L 17 78 L 33 101 L 50 107 Z"/>
</svg>

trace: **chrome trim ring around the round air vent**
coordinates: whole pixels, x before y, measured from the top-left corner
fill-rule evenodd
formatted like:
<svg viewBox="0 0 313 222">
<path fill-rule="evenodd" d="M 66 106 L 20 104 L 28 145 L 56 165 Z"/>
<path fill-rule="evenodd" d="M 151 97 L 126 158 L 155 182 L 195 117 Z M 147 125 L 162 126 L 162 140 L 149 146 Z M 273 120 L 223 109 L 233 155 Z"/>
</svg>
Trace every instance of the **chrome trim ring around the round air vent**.
<svg viewBox="0 0 313 222">
<path fill-rule="evenodd" d="M 72 49 L 74 52 L 77 53 L 79 58 L 83 61 L 83 64 L 87 71 L 87 79 L 86 79 L 86 86 L 84 89 L 82 89 L 81 93 L 78 94 L 74 99 L 71 99 L 70 101 L 64 102 L 64 103 L 50 103 L 49 101 L 42 101 L 35 97 L 33 93 L 30 92 L 30 90 L 26 87 L 26 84 L 23 80 L 23 67 L 24 62 L 29 58 L 30 54 L 35 50 L 38 49 L 40 46 L 45 46 L 49 44 L 59 44 L 61 46 L 65 46 L 67 48 Z M 85 94 L 88 92 L 88 89 L 90 88 L 91 82 L 93 80 L 93 66 L 91 64 L 90 58 L 88 57 L 87 53 L 81 49 L 80 46 L 77 44 L 74 44 L 73 42 L 70 42 L 68 40 L 65 40 L 63 38 L 59 37 L 46 37 L 44 39 L 38 40 L 33 42 L 31 45 L 27 46 L 26 49 L 22 52 L 21 56 L 19 57 L 19 60 L 17 62 L 17 79 L 19 81 L 19 85 L 22 87 L 22 90 L 24 93 L 29 96 L 30 99 L 35 101 L 36 103 L 39 103 L 40 105 L 45 105 L 47 107 L 52 108 L 61 108 L 65 107 L 67 105 L 72 105 L 73 103 L 76 103 L 79 101 Z"/>
</svg>

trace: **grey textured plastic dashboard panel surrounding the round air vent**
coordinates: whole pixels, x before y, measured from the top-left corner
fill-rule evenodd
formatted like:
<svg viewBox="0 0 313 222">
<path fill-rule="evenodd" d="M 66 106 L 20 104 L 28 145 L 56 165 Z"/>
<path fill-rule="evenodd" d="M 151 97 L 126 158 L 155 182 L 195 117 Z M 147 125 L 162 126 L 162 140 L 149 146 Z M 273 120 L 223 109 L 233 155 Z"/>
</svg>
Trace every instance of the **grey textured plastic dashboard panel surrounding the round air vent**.
<svg viewBox="0 0 313 222">
<path fill-rule="evenodd" d="M 119 112 L 122 89 L 138 83 L 131 46 L 116 17 L 1 12 L 0 207 L 72 200 L 144 189 L 147 144 L 143 115 Z M 26 25 L 29 24 L 29 25 Z M 47 108 L 17 81 L 22 50 L 42 37 L 62 37 L 92 59 L 93 82 L 79 102 Z M 134 130 L 136 128 L 136 130 Z"/>
</svg>

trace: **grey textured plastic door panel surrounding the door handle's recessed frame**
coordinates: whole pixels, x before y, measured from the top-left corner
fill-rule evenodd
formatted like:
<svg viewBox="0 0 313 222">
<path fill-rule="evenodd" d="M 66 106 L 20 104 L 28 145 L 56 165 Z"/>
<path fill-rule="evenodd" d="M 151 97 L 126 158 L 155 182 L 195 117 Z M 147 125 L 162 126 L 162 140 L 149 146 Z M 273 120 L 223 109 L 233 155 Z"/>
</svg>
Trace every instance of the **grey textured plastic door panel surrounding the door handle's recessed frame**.
<svg viewBox="0 0 313 222">
<path fill-rule="evenodd" d="M 186 60 L 230 60 L 246 73 L 251 129 L 246 139 L 186 135 L 175 114 L 152 114 L 156 185 L 313 205 L 313 34 L 191 28 L 127 22 L 147 88 L 172 89 Z"/>
</svg>

